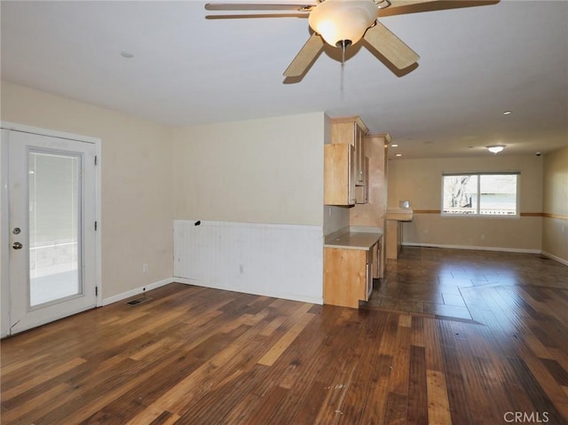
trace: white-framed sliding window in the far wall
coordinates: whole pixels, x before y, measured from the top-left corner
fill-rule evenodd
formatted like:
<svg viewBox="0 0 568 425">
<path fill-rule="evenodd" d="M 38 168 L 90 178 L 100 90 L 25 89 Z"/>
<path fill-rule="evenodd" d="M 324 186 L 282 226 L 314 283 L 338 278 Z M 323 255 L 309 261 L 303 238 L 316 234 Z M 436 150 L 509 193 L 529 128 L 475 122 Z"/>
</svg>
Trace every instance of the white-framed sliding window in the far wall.
<svg viewBox="0 0 568 425">
<path fill-rule="evenodd" d="M 444 174 L 447 215 L 517 216 L 518 173 Z"/>
</svg>

